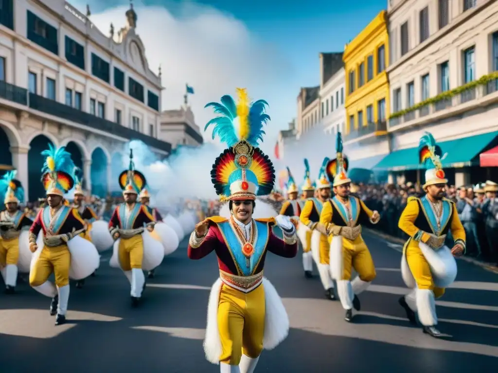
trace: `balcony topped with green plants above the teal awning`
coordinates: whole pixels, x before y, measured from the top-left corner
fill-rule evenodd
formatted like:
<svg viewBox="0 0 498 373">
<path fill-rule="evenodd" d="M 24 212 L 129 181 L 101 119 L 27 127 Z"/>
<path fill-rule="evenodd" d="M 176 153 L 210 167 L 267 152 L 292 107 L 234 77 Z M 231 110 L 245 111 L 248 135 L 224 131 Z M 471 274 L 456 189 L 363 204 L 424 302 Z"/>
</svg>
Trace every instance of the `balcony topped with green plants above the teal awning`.
<svg viewBox="0 0 498 373">
<path fill-rule="evenodd" d="M 414 124 L 427 124 L 440 118 L 463 113 L 476 105 L 489 105 L 497 101 L 498 73 L 485 75 L 449 92 L 428 98 L 415 106 L 391 114 L 389 130 Z M 394 130 L 397 130 L 394 129 Z"/>
</svg>

